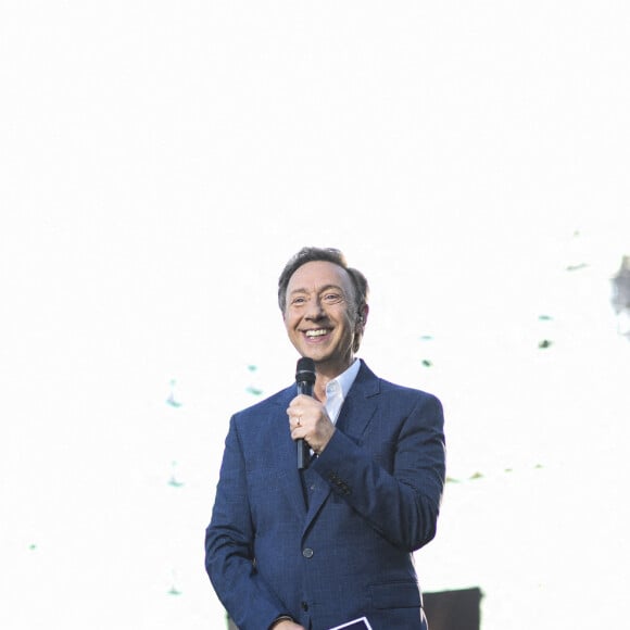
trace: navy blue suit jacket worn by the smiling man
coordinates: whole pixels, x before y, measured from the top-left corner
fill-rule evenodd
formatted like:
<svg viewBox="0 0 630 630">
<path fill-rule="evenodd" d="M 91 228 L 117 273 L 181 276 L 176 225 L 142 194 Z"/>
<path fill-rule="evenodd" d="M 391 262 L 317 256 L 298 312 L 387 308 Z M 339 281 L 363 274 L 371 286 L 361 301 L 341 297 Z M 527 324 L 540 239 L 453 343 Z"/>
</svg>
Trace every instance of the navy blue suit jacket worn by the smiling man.
<svg viewBox="0 0 630 630">
<path fill-rule="evenodd" d="M 412 552 L 436 534 L 444 484 L 442 406 L 362 362 L 338 430 L 297 469 L 292 386 L 230 420 L 205 566 L 240 630 L 281 614 L 327 630 L 366 616 L 375 630 L 426 628 Z"/>
</svg>

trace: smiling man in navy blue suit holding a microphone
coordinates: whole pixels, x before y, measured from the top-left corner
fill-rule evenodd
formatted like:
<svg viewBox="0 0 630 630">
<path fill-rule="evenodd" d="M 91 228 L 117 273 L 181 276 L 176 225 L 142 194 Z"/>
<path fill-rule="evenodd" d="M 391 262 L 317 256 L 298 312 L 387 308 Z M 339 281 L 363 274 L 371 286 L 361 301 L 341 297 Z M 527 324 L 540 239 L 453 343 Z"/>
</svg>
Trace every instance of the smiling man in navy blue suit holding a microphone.
<svg viewBox="0 0 630 630">
<path fill-rule="evenodd" d="M 444 486 L 439 400 L 382 380 L 355 352 L 368 286 L 341 252 L 304 248 L 278 300 L 315 362 L 295 385 L 235 414 L 205 536 L 212 584 L 240 630 L 427 629 L 413 552 L 436 534 Z M 312 461 L 298 470 L 295 440 Z"/>
</svg>

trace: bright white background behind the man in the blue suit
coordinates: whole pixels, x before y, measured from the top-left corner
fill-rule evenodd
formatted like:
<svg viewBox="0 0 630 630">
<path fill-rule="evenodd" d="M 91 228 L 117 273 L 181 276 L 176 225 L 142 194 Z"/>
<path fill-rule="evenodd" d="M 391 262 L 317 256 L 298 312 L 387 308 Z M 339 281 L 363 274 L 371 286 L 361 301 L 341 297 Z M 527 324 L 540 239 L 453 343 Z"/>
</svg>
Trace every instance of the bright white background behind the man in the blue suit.
<svg viewBox="0 0 630 630">
<path fill-rule="evenodd" d="M 483 630 L 619 627 L 629 26 L 602 0 L 3 3 L 0 626 L 224 627 L 223 440 L 292 380 L 276 280 L 317 244 L 371 284 L 361 356 L 444 403 L 425 590 L 480 587 Z"/>
</svg>

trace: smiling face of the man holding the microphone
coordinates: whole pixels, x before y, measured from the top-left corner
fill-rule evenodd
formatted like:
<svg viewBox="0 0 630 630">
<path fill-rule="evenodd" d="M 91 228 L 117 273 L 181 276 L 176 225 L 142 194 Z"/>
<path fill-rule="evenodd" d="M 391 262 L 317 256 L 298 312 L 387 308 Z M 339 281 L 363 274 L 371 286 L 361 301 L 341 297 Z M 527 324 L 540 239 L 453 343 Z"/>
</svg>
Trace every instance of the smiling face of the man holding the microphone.
<svg viewBox="0 0 630 630">
<path fill-rule="evenodd" d="M 319 364 L 319 371 L 338 375 L 350 366 L 356 307 L 343 267 L 326 261 L 299 267 L 289 279 L 284 318 L 295 350 Z"/>
</svg>

